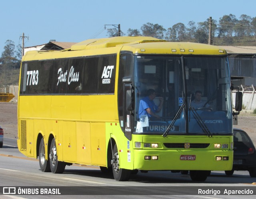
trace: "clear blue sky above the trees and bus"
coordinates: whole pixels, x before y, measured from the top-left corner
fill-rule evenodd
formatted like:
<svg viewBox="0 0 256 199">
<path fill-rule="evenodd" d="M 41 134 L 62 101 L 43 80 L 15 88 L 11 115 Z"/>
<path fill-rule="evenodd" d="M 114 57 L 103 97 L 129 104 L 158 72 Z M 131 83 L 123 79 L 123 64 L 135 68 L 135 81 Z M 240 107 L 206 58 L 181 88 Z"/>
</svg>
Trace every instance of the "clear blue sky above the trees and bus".
<svg viewBox="0 0 256 199">
<path fill-rule="evenodd" d="M 6 41 L 24 47 L 48 43 L 80 42 L 108 37 L 104 25 L 120 24 L 121 31 L 146 23 L 166 30 L 174 24 L 218 20 L 233 14 L 256 17 L 255 0 L 4 0 L 0 1 L 0 56 Z M 106 26 L 114 28 L 114 26 Z"/>
</svg>

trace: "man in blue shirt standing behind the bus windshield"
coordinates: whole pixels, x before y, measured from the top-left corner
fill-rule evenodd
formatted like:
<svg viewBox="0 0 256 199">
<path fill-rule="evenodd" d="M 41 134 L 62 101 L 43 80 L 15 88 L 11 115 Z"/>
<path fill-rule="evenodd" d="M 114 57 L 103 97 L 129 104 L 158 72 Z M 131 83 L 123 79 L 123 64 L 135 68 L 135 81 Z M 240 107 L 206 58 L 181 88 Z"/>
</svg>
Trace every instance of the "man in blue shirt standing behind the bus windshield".
<svg viewBox="0 0 256 199">
<path fill-rule="evenodd" d="M 140 100 L 140 106 L 139 106 L 139 118 L 142 115 L 147 115 L 148 118 L 155 117 L 160 118 L 159 115 L 156 115 L 156 112 L 159 112 L 162 109 L 164 99 L 162 97 L 159 98 L 160 104 L 159 106 L 156 106 L 154 103 L 154 98 L 156 97 L 156 92 L 154 89 L 149 89 L 147 91 L 147 96 L 144 97 L 142 100 Z"/>
</svg>

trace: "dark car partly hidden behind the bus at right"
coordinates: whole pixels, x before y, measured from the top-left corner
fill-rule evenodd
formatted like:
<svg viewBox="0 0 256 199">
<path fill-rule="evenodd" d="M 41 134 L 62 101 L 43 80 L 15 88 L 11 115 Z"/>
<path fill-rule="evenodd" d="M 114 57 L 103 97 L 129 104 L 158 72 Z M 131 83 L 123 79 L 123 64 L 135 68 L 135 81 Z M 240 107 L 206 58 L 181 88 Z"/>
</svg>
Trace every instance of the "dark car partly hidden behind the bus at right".
<svg viewBox="0 0 256 199">
<path fill-rule="evenodd" d="M 234 171 L 249 171 L 251 177 L 256 177 L 256 151 L 248 134 L 241 129 L 234 128 L 234 160 L 231 171 L 226 175 L 233 175 Z"/>
</svg>

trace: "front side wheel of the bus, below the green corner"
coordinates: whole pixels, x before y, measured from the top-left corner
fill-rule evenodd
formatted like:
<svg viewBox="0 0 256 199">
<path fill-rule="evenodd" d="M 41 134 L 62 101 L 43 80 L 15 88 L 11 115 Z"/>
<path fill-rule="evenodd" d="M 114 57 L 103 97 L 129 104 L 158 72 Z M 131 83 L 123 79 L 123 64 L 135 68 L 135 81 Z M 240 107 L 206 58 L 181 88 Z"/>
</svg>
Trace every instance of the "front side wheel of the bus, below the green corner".
<svg viewBox="0 0 256 199">
<path fill-rule="evenodd" d="M 113 160 L 112 160 L 112 170 L 114 179 L 116 181 L 127 181 L 130 177 L 131 170 L 128 169 L 120 169 L 119 167 L 119 155 L 117 146 L 115 144 L 113 148 Z"/>
</svg>

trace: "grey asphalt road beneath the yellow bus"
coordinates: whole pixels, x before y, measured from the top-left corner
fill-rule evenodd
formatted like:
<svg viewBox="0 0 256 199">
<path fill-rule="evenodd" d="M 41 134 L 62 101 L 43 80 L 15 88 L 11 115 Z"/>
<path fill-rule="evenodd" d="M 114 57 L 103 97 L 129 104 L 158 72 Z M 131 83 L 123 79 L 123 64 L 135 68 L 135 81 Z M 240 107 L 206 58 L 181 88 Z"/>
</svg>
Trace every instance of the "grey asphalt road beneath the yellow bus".
<svg viewBox="0 0 256 199">
<path fill-rule="evenodd" d="M 40 171 L 38 160 L 26 158 L 17 148 L 16 139 L 6 138 L 0 149 L 0 186 L 38 188 L 47 186 L 60 187 L 62 193 L 74 194 L 72 198 L 84 198 L 80 194 L 90 194 L 87 198 L 205 198 L 194 195 L 198 189 L 252 189 L 256 194 L 256 178 L 250 177 L 248 171 L 235 171 L 226 176 L 224 171 L 212 171 L 205 182 L 195 182 L 188 175 L 171 173 L 170 171 L 149 171 L 132 175 L 129 181 L 118 182 L 112 174 L 102 173 L 95 166 L 66 166 L 64 173 L 53 174 Z M 73 187 L 74 189 L 70 189 Z M 1 187 L 0 187 L 1 188 Z M 75 191 L 74 191 L 75 190 Z M 1 190 L 0 190 L 1 191 Z M 87 191 L 87 192 L 84 192 Z M 0 192 L 1 193 L 1 192 Z M 106 195 L 104 195 L 106 194 Z M 116 195 L 118 194 L 118 195 Z M 133 195 L 131 195 L 133 194 Z M 143 195 L 142 195 L 143 194 Z M 148 195 L 150 194 L 150 195 Z M 182 195 L 184 194 L 184 195 Z M 191 196 L 191 195 L 194 196 Z M 104 196 L 103 196 L 104 195 Z M 22 197 L 22 196 L 19 196 Z M 26 195 L 26 198 L 50 198 L 51 195 Z M 54 197 L 70 198 L 70 195 Z M 229 195 L 207 195 L 208 198 L 230 198 Z M 238 195 L 236 195 L 238 197 Z M 255 195 L 242 196 L 255 198 Z M 0 195 L 0 198 L 9 198 Z M 13 197 L 12 197 L 13 198 Z M 234 197 L 233 197 L 234 198 Z"/>
</svg>

